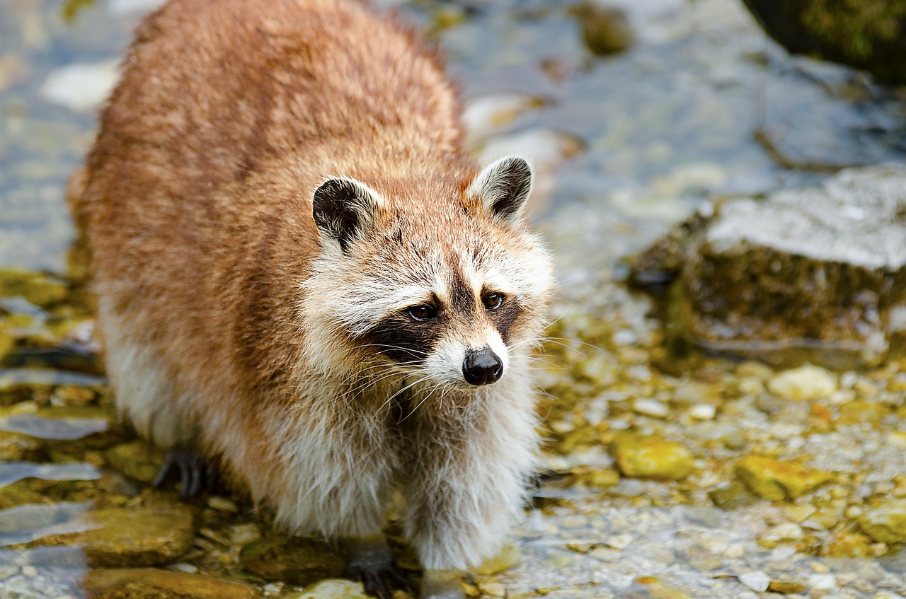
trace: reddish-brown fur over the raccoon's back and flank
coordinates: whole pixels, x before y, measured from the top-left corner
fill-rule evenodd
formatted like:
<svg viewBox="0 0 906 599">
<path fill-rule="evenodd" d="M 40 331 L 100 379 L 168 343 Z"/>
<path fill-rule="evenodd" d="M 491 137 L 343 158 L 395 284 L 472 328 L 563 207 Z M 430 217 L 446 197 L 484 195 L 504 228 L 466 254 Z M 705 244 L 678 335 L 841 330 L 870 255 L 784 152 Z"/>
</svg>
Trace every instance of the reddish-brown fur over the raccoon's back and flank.
<svg viewBox="0 0 906 599">
<path fill-rule="evenodd" d="M 466 194 L 477 168 L 459 111 L 436 52 L 359 4 L 178 0 L 145 19 L 71 187 L 101 333 L 150 352 L 188 428 L 142 433 L 162 444 L 192 437 L 256 499 L 293 500 L 271 428 L 296 407 L 298 377 L 311 376 L 298 372 L 297 312 L 321 248 L 313 192 L 326 176 L 353 177 L 405 207 L 379 212 L 379 228 L 399 226 L 423 245 L 467 228 L 512 246 Z M 453 427 L 455 444 L 486 427 L 457 417 L 413 421 L 423 433 L 412 434 Z M 351 433 L 367 457 L 370 439 Z M 467 468 L 429 453 L 438 468 Z"/>
</svg>

